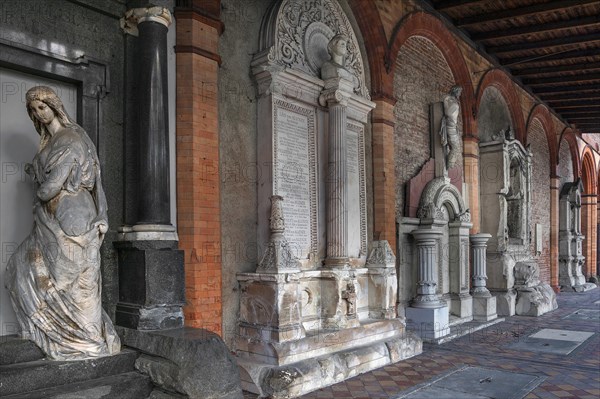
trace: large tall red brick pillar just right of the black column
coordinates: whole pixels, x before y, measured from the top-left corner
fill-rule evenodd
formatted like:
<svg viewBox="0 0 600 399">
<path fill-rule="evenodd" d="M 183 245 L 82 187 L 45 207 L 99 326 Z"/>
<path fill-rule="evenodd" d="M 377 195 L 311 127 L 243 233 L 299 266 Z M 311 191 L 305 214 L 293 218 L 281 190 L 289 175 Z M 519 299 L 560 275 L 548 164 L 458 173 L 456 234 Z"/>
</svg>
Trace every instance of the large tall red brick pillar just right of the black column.
<svg viewBox="0 0 600 399">
<path fill-rule="evenodd" d="M 223 28 L 218 15 L 200 8 L 214 2 L 199 3 L 175 10 L 177 228 L 185 250 L 185 323 L 221 334 L 217 53 Z"/>
</svg>

